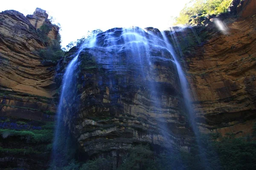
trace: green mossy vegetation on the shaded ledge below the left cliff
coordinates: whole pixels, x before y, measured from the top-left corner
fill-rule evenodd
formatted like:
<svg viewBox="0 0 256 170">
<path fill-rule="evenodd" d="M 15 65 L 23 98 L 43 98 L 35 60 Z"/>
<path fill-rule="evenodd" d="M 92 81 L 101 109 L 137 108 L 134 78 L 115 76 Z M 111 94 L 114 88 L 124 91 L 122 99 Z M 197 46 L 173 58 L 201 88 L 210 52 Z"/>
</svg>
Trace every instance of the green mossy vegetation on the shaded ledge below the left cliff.
<svg viewBox="0 0 256 170">
<path fill-rule="evenodd" d="M 54 122 L 4 117 L 1 119 L 5 120 L 1 122 L 2 128 L 12 129 L 0 129 L 0 154 L 19 157 L 35 154 L 49 154 L 51 152 Z M 22 128 L 26 130 L 22 130 Z"/>
</svg>

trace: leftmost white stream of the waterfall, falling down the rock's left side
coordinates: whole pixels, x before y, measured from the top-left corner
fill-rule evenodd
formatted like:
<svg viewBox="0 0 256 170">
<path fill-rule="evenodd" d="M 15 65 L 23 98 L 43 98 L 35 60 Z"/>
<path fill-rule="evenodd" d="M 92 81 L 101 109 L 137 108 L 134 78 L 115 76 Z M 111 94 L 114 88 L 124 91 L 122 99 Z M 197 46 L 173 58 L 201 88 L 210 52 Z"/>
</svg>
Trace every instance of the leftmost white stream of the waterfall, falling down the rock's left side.
<svg viewBox="0 0 256 170">
<path fill-rule="evenodd" d="M 56 125 L 55 125 L 55 134 L 52 145 L 52 168 L 56 169 L 57 167 L 61 167 L 67 164 L 68 159 L 72 158 L 72 147 L 71 145 L 75 145 L 76 142 L 72 141 L 71 136 L 69 134 L 69 130 L 65 126 L 64 113 L 66 112 L 66 108 L 68 108 L 67 100 L 74 100 L 76 94 L 76 86 L 73 85 L 76 82 L 76 77 L 74 77 L 74 71 L 79 65 L 78 57 L 83 48 L 93 47 L 95 42 L 94 36 L 91 37 L 88 41 L 82 44 L 76 53 L 76 56 L 70 61 L 67 65 L 66 70 L 63 75 L 62 85 L 61 85 L 61 95 L 58 103 L 58 110 L 56 115 Z M 71 101 L 72 103 L 73 101 Z M 66 118 L 67 119 L 67 118 Z M 74 150 L 74 149 L 73 149 Z"/>
</svg>

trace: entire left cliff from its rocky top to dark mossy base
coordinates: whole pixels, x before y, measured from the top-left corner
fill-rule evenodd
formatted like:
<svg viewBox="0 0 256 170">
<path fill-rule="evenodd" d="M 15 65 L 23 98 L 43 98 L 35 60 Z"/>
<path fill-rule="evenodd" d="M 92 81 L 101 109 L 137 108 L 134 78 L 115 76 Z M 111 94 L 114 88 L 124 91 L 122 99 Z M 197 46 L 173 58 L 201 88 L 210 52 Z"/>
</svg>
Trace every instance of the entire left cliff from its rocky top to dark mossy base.
<svg viewBox="0 0 256 170">
<path fill-rule="evenodd" d="M 28 134 L 47 133 L 47 136 L 52 136 L 48 134 L 52 131 L 52 124 L 50 129 L 45 129 L 43 126 L 48 124 L 41 121 L 54 120 L 55 68 L 42 65 L 36 52 L 47 47 L 37 28 L 41 23 L 50 23 L 48 15 L 42 17 L 38 12 L 40 9 L 29 19 L 14 10 L 0 13 L 1 168 L 45 169 L 48 166 L 49 151 L 42 148 L 46 148 L 51 139 L 35 144 L 33 135 L 22 136 L 15 131 L 27 130 L 31 132 Z M 36 25 L 35 20 L 41 23 Z M 53 26 L 47 36 L 55 39 L 57 34 L 58 27 Z"/>
</svg>

